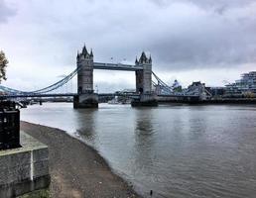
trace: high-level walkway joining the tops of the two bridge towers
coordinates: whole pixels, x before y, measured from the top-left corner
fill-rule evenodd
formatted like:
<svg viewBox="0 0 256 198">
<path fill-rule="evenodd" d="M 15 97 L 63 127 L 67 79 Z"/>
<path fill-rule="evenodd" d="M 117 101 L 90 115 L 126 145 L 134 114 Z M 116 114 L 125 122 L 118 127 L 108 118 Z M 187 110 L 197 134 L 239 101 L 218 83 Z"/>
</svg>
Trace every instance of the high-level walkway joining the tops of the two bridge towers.
<svg viewBox="0 0 256 198">
<path fill-rule="evenodd" d="M 122 63 L 101 63 L 93 62 L 94 69 L 107 69 L 107 70 L 122 70 L 122 71 L 136 71 L 143 69 L 142 66 Z"/>
</svg>

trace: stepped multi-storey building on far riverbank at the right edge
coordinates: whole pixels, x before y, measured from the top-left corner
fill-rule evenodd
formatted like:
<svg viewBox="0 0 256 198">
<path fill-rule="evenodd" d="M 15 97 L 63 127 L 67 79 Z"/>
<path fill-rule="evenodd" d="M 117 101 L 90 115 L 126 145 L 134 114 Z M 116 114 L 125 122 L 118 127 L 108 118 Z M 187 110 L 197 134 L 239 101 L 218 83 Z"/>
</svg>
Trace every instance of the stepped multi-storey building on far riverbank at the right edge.
<svg viewBox="0 0 256 198">
<path fill-rule="evenodd" d="M 226 85 L 225 95 L 231 97 L 256 97 L 256 71 L 243 73 L 241 79 Z"/>
</svg>

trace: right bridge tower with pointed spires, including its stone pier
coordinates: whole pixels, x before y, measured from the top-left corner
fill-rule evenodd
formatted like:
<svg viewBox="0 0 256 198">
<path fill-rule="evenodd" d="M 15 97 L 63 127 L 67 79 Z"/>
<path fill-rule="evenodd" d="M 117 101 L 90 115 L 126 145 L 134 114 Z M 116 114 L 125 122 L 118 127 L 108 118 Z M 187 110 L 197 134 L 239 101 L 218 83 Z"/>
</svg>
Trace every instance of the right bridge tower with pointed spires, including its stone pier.
<svg viewBox="0 0 256 198">
<path fill-rule="evenodd" d="M 139 60 L 136 57 L 136 66 L 143 69 L 135 71 L 136 92 L 140 94 L 140 98 L 132 101 L 132 106 L 157 106 L 155 94 L 152 91 L 152 58 L 147 57 L 143 51 Z"/>
</svg>

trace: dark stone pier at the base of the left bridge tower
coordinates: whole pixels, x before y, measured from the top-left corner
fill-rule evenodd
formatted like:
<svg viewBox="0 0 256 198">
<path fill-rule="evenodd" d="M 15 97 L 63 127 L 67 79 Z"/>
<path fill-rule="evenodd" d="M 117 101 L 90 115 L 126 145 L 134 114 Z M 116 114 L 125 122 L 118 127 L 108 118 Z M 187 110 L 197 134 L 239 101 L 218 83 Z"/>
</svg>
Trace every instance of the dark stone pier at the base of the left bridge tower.
<svg viewBox="0 0 256 198">
<path fill-rule="evenodd" d="M 74 109 L 98 108 L 98 94 L 80 94 L 73 97 Z"/>
</svg>

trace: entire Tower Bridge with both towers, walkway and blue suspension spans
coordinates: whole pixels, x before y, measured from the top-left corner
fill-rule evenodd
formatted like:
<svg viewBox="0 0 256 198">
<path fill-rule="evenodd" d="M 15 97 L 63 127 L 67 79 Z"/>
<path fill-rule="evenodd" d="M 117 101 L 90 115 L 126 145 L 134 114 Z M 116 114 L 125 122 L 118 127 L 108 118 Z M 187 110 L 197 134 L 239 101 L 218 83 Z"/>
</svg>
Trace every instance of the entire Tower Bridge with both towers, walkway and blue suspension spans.
<svg viewBox="0 0 256 198">
<path fill-rule="evenodd" d="M 161 80 L 156 73 L 152 71 L 152 58 L 142 52 L 139 59 L 135 59 L 135 64 L 122 63 L 104 63 L 94 62 L 92 50 L 87 51 L 85 46 L 81 52 L 77 52 L 76 68 L 58 82 L 42 89 L 34 91 L 21 91 L 0 85 L 2 95 L 0 99 L 20 98 L 20 97 L 57 97 L 72 96 L 74 108 L 97 108 L 99 96 L 116 96 L 115 94 L 98 94 L 93 90 L 93 70 L 121 70 L 135 72 L 136 92 L 129 95 L 133 98 L 134 106 L 155 106 L 157 97 L 176 97 L 186 99 L 198 99 L 203 93 L 201 88 L 184 90 L 176 92 L 172 87 Z M 76 93 L 55 93 L 57 89 L 63 87 L 77 74 L 77 92 Z M 154 78 L 154 80 L 153 80 Z M 119 94 L 120 95 L 120 94 Z"/>
</svg>

